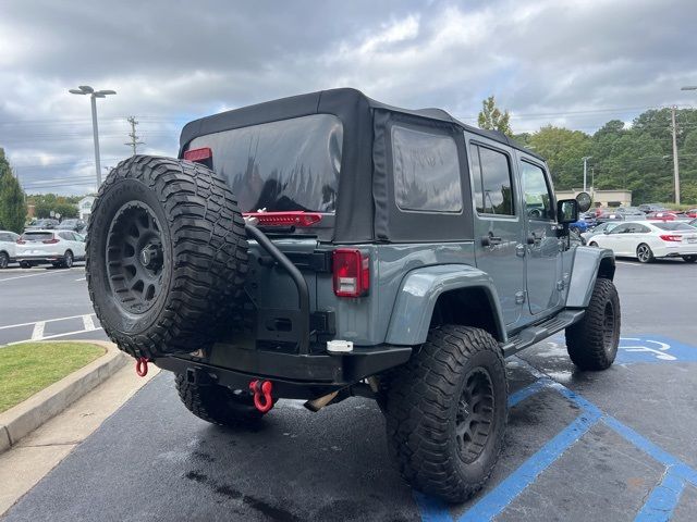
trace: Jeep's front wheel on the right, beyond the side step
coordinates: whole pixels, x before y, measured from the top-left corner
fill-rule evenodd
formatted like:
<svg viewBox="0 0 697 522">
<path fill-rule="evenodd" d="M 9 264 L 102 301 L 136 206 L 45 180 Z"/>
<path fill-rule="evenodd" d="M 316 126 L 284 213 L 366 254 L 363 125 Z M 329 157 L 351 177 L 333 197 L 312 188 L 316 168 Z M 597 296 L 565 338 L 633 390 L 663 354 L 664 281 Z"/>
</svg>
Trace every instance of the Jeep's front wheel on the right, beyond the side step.
<svg viewBox="0 0 697 522">
<path fill-rule="evenodd" d="M 566 350 L 582 370 L 606 370 L 620 345 L 620 297 L 610 279 L 598 277 L 583 319 L 566 328 Z"/>
</svg>

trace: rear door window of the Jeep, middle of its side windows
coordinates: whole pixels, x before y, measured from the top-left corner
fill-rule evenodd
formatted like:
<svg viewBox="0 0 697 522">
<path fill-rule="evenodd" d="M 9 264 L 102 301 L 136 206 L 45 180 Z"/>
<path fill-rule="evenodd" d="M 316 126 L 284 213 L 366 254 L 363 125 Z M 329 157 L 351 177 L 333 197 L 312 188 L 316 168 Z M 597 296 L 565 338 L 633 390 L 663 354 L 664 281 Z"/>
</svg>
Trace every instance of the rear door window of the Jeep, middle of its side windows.
<svg viewBox="0 0 697 522">
<path fill-rule="evenodd" d="M 509 157 L 478 145 L 470 147 L 470 153 L 477 212 L 515 215 Z"/>
</svg>

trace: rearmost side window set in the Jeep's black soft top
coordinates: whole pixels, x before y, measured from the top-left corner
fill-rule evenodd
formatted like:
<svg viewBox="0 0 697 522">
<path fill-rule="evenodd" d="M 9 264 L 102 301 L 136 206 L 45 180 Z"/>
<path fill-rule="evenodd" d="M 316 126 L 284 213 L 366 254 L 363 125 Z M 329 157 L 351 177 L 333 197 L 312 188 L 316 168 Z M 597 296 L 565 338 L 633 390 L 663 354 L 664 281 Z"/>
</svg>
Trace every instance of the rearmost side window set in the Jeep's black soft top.
<svg viewBox="0 0 697 522">
<path fill-rule="evenodd" d="M 460 159 L 451 136 L 392 127 L 394 199 L 401 210 L 461 212 Z"/>
</svg>

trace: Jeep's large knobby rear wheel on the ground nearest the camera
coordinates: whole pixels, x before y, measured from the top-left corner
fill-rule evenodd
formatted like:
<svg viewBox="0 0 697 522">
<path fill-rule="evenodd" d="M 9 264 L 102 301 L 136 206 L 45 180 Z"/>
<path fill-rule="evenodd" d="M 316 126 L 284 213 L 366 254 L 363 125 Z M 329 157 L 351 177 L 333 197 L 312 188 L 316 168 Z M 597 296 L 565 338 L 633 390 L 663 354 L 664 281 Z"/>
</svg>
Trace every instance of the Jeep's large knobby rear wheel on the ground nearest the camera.
<svg viewBox="0 0 697 522">
<path fill-rule="evenodd" d="M 501 349 L 480 328 L 433 328 L 390 378 L 388 440 L 402 476 L 447 501 L 472 497 L 503 447 L 508 383 Z"/>
</svg>

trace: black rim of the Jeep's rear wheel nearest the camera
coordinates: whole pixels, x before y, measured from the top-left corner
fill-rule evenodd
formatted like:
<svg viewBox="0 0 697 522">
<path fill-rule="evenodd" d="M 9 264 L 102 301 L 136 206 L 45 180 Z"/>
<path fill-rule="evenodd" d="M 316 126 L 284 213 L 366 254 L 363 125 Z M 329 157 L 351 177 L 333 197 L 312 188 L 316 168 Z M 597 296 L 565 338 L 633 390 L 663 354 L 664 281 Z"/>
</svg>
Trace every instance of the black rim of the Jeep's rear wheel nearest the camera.
<svg viewBox="0 0 697 522">
<path fill-rule="evenodd" d="M 465 377 L 457 413 L 455 438 L 460 458 L 467 464 L 482 453 L 493 427 L 493 385 L 484 368 L 476 368 Z"/>
</svg>

